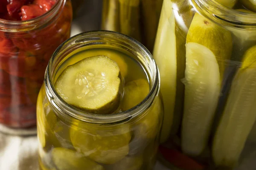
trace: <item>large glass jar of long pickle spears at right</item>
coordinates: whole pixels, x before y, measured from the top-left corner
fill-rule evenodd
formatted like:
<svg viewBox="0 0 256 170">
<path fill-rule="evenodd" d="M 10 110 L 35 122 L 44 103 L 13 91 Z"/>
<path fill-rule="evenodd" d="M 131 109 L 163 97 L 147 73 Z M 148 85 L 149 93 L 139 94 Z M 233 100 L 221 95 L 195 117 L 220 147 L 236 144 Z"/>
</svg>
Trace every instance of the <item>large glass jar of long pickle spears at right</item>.
<svg viewBox="0 0 256 170">
<path fill-rule="evenodd" d="M 153 56 L 164 103 L 160 153 L 169 165 L 256 167 L 256 14 L 244 2 L 163 2 Z"/>
</svg>

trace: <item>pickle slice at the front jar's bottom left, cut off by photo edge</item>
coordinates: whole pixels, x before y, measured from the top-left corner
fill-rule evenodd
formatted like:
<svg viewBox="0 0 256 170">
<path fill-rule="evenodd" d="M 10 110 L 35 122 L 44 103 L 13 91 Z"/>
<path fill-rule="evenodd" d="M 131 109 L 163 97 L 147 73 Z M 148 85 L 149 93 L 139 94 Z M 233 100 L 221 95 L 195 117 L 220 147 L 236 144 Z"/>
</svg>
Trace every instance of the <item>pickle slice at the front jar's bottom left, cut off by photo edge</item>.
<svg viewBox="0 0 256 170">
<path fill-rule="evenodd" d="M 52 160 L 58 170 L 104 170 L 104 168 L 79 153 L 66 148 L 52 150 Z"/>
</svg>

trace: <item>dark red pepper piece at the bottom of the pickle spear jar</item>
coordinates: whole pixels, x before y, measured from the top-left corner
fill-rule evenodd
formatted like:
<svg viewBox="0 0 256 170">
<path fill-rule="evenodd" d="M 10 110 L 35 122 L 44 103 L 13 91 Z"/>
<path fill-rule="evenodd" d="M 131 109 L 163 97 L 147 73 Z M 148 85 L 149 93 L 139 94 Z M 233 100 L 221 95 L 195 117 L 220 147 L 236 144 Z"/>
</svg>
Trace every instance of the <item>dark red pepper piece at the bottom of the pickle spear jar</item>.
<svg viewBox="0 0 256 170">
<path fill-rule="evenodd" d="M 205 168 L 204 165 L 199 164 L 178 150 L 160 146 L 159 151 L 167 161 L 183 170 L 204 170 Z"/>
</svg>

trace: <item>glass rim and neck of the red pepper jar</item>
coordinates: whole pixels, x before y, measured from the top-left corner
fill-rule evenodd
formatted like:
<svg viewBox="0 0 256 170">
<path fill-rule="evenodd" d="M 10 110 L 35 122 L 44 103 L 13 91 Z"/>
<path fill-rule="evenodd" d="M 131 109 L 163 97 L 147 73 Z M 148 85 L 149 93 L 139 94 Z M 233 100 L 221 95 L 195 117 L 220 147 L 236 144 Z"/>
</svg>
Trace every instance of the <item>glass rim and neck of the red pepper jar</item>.
<svg viewBox="0 0 256 170">
<path fill-rule="evenodd" d="M 9 21 L 0 19 L 0 31 L 4 32 L 23 32 L 31 31 L 42 26 L 47 26 L 54 22 L 60 15 L 67 0 L 58 0 L 55 5 L 40 17 L 27 21 Z"/>
</svg>

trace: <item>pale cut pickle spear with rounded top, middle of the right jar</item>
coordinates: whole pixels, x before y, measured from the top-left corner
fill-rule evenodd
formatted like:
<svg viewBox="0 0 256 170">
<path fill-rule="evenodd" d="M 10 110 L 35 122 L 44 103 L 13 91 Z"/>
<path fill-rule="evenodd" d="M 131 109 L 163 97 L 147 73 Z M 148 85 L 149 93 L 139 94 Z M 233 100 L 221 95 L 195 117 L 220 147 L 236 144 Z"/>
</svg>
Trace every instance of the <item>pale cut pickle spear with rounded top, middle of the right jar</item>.
<svg viewBox="0 0 256 170">
<path fill-rule="evenodd" d="M 186 44 L 185 103 L 181 131 L 184 153 L 197 156 L 207 145 L 220 92 L 217 59 L 209 48 Z"/>
</svg>

